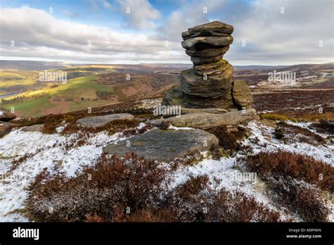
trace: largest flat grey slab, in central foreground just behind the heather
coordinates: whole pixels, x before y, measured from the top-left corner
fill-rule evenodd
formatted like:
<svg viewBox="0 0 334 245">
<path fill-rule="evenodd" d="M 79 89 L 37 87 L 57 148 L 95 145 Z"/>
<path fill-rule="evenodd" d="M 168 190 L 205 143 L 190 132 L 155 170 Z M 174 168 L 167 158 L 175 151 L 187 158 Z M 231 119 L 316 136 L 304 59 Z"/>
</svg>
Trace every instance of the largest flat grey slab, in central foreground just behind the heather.
<svg viewBox="0 0 334 245">
<path fill-rule="evenodd" d="M 187 153 L 195 151 L 206 151 L 217 144 L 216 136 L 203 130 L 155 129 L 117 144 L 109 144 L 103 151 L 117 156 L 134 151 L 137 156 L 149 160 L 173 161 L 175 157 L 184 157 Z"/>
</svg>

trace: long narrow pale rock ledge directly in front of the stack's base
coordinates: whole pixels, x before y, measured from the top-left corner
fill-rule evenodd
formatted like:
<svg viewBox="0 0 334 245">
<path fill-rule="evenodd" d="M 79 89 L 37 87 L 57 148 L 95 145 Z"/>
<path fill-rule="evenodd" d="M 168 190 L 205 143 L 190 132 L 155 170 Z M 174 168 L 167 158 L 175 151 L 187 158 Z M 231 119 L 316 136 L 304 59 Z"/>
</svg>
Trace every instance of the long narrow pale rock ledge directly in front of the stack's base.
<svg viewBox="0 0 334 245">
<path fill-rule="evenodd" d="M 254 108 L 228 113 L 187 113 L 178 117 L 155 120 L 153 125 L 159 126 L 162 122 L 169 122 L 176 127 L 194 127 L 207 129 L 223 125 L 238 125 L 251 120 L 259 120 Z"/>
</svg>

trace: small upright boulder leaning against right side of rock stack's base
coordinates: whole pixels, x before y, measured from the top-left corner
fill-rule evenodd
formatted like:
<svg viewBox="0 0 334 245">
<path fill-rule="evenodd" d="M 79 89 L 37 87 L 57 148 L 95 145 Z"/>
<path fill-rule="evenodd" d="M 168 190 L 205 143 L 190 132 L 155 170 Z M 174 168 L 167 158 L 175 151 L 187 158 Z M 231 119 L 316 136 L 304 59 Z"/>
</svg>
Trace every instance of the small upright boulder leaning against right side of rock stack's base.
<svg viewBox="0 0 334 245">
<path fill-rule="evenodd" d="M 253 96 L 244 80 L 233 82 L 232 96 L 238 108 L 252 108 Z"/>
</svg>

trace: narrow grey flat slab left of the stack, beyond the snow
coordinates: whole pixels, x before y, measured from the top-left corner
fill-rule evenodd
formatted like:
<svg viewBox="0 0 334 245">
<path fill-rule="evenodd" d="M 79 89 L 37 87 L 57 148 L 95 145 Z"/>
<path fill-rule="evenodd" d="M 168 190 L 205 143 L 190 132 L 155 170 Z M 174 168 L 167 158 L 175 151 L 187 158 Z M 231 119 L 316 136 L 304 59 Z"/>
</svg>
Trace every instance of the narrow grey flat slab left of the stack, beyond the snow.
<svg viewBox="0 0 334 245">
<path fill-rule="evenodd" d="M 135 116 L 129 113 L 119 113 L 80 118 L 79 120 L 77 120 L 76 123 L 85 127 L 101 127 L 113 120 L 133 120 L 134 118 Z"/>
</svg>

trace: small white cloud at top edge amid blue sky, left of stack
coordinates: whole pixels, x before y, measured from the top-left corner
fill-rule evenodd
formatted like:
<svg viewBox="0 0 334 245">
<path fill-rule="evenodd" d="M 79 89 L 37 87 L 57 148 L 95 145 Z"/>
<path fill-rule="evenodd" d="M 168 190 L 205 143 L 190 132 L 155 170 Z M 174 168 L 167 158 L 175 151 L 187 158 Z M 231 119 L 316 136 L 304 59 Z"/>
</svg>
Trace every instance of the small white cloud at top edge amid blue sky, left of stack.
<svg viewBox="0 0 334 245">
<path fill-rule="evenodd" d="M 148 0 L 118 0 L 117 4 L 128 26 L 132 28 L 152 29 L 156 27 L 153 21 L 161 17 L 161 13 Z"/>
</svg>

